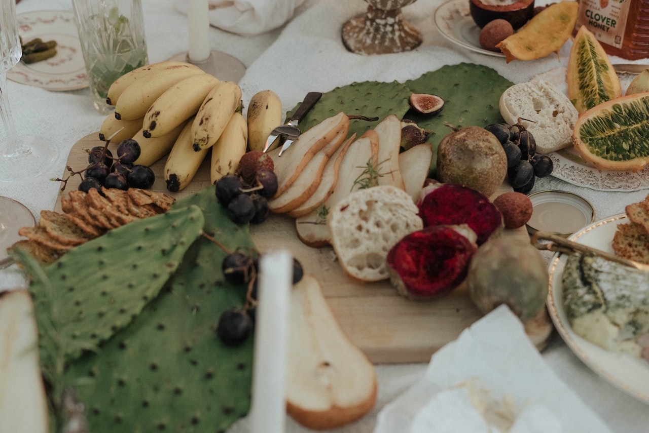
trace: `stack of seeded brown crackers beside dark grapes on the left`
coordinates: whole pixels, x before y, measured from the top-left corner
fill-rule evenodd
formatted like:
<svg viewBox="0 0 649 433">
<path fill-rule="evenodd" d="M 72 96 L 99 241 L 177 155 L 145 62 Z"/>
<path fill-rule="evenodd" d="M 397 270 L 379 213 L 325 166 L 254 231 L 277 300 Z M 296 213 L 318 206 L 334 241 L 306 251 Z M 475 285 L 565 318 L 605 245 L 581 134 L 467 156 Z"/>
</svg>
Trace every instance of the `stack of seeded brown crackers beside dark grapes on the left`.
<svg viewBox="0 0 649 433">
<path fill-rule="evenodd" d="M 175 198 L 145 189 L 114 188 L 70 191 L 61 198 L 63 213 L 41 211 L 38 226 L 23 227 L 20 246 L 42 263 L 52 263 L 77 245 L 138 218 L 153 217 L 171 207 Z"/>
</svg>

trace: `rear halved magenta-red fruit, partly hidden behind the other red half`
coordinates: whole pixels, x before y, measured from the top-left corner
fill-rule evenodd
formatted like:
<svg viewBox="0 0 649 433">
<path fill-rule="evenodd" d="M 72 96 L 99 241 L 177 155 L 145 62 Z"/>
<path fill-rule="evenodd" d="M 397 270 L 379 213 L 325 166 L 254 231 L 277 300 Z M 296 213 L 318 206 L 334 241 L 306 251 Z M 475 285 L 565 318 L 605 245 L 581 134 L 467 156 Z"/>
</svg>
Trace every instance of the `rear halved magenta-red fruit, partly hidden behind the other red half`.
<svg viewBox="0 0 649 433">
<path fill-rule="evenodd" d="M 476 232 L 478 245 L 484 244 L 503 224 L 502 214 L 487 196 L 456 183 L 433 185 L 418 206 L 424 227 L 467 224 Z"/>
</svg>

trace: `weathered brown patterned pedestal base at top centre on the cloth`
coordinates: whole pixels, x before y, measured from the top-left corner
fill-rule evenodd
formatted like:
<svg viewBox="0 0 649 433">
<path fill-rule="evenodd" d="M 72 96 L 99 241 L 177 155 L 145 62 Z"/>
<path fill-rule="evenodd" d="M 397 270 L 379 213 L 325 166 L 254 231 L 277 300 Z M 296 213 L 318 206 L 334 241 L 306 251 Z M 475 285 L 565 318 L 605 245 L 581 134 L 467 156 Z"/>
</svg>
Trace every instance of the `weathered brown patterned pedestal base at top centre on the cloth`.
<svg viewBox="0 0 649 433">
<path fill-rule="evenodd" d="M 404 21 L 401 8 L 415 0 L 365 0 L 367 12 L 352 18 L 341 31 L 345 48 L 358 54 L 411 51 L 421 44 L 421 34 Z"/>
</svg>

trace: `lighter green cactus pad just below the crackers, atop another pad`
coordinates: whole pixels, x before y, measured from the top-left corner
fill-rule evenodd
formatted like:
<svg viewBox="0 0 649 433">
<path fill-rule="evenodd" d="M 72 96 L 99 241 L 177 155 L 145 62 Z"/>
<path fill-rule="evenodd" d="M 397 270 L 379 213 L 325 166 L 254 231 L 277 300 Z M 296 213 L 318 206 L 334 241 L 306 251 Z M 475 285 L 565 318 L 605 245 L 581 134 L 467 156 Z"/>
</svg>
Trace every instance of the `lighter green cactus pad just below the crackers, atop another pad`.
<svg viewBox="0 0 649 433">
<path fill-rule="evenodd" d="M 143 218 L 70 250 L 45 268 L 19 251 L 16 261 L 31 279 L 46 377 L 82 352 L 96 351 L 158 296 L 203 224 L 197 206 Z"/>
</svg>

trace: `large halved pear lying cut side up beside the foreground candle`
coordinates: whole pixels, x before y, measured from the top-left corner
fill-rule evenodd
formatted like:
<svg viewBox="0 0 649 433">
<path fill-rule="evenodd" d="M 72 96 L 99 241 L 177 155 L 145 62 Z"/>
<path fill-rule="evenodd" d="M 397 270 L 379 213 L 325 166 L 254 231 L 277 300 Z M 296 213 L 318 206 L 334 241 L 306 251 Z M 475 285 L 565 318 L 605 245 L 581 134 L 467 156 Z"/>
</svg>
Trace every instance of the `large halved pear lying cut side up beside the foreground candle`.
<svg viewBox="0 0 649 433">
<path fill-rule="evenodd" d="M 293 286 L 290 299 L 288 414 L 314 430 L 360 419 L 376 401 L 373 364 L 341 329 L 313 275 Z"/>
</svg>

